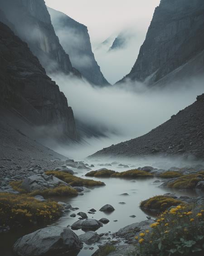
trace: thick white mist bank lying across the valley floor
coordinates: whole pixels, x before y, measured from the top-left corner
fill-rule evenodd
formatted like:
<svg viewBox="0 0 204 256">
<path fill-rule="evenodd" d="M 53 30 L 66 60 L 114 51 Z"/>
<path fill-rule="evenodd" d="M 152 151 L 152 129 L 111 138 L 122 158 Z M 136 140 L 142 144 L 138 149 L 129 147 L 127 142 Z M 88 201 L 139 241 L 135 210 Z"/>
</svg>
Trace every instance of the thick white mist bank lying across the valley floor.
<svg viewBox="0 0 204 256">
<path fill-rule="evenodd" d="M 203 80 L 192 79 L 176 87 L 146 90 L 138 82 L 109 87 L 92 87 L 88 82 L 65 75 L 49 75 L 58 84 L 82 126 L 103 136 L 83 134 L 79 144 L 56 151 L 75 159 L 87 157 L 104 147 L 141 136 L 189 106 L 203 93 Z"/>
</svg>

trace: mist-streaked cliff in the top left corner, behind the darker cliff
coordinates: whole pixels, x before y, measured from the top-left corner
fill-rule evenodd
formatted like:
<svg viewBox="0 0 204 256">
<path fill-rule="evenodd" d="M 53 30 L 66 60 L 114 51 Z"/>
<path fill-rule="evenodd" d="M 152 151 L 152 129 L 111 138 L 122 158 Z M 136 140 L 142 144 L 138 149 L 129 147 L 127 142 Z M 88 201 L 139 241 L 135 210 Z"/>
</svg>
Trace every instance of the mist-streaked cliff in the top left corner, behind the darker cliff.
<svg viewBox="0 0 204 256">
<path fill-rule="evenodd" d="M 44 0 L 1 0 L 0 9 L 15 25 L 15 33 L 28 43 L 46 72 L 73 73 L 80 77 L 59 43 Z M 10 23 L 6 25 L 10 26 Z"/>
</svg>

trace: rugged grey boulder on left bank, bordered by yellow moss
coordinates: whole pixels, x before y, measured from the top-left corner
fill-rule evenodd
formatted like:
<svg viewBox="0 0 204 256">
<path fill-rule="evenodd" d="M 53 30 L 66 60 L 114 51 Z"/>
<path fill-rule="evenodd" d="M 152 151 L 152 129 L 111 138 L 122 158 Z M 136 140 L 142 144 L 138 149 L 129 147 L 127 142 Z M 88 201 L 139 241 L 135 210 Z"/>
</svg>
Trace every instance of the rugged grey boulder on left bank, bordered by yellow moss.
<svg viewBox="0 0 204 256">
<path fill-rule="evenodd" d="M 45 174 L 35 174 L 23 180 L 21 189 L 24 189 L 27 192 L 31 192 L 37 189 L 43 190 L 55 188 L 61 184 L 68 186 L 66 182 L 54 177 L 53 175 L 48 176 Z"/>
</svg>

